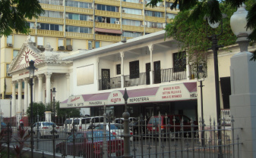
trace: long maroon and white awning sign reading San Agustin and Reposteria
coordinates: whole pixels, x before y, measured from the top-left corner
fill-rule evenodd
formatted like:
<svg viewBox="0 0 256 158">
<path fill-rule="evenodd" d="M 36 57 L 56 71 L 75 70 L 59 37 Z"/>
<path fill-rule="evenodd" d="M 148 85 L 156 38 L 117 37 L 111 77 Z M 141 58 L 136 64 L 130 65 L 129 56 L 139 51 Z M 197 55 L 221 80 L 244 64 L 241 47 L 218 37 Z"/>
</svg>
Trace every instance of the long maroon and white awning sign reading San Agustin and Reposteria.
<svg viewBox="0 0 256 158">
<path fill-rule="evenodd" d="M 130 94 L 130 96 L 127 103 L 139 104 L 152 103 L 156 101 L 185 101 L 198 98 L 196 82 L 162 85 L 159 88 L 154 89 L 155 90 L 152 90 L 152 88 L 140 89 L 140 93 L 136 93 L 136 91 L 138 91 L 137 89 L 128 90 L 128 95 Z M 150 91 L 150 93 L 148 93 L 148 91 Z M 63 101 L 60 107 L 94 107 L 125 104 L 122 92 L 116 90 L 105 94 L 83 94 L 71 96 L 68 100 Z M 102 98 L 102 100 L 95 101 L 94 99 L 90 99 L 90 95 L 96 95 L 96 98 Z"/>
</svg>

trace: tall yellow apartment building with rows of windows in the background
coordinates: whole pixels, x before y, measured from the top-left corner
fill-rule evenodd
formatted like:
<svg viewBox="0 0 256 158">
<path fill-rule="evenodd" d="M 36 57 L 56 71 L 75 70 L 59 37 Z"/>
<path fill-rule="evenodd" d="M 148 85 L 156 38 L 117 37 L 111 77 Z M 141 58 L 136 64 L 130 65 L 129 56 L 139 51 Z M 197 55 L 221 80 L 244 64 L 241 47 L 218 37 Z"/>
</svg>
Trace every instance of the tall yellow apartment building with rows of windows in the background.
<svg viewBox="0 0 256 158">
<path fill-rule="evenodd" d="M 27 20 L 27 25 L 33 45 L 41 51 L 47 43 L 54 51 L 90 50 L 147 35 L 162 30 L 178 13 L 166 1 L 156 8 L 146 7 L 143 0 L 40 0 L 40 4 L 45 14 Z M 1 39 L 1 98 L 11 95 L 8 67 L 26 39 L 19 33 Z"/>
</svg>

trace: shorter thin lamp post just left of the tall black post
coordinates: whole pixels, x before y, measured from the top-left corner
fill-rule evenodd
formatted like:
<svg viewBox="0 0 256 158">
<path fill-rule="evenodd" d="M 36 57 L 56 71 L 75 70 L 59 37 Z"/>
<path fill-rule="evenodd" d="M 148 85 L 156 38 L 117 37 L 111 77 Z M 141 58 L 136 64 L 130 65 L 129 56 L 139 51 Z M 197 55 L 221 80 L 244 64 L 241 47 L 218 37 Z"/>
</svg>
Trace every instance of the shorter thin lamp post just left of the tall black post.
<svg viewBox="0 0 256 158">
<path fill-rule="evenodd" d="M 203 107 L 203 81 L 204 81 L 204 70 L 203 66 L 199 65 L 198 67 L 198 81 L 200 82 L 200 85 L 198 87 L 201 88 L 201 119 L 202 119 L 202 132 L 201 132 L 201 143 L 202 147 L 204 147 L 204 107 Z"/>
</svg>

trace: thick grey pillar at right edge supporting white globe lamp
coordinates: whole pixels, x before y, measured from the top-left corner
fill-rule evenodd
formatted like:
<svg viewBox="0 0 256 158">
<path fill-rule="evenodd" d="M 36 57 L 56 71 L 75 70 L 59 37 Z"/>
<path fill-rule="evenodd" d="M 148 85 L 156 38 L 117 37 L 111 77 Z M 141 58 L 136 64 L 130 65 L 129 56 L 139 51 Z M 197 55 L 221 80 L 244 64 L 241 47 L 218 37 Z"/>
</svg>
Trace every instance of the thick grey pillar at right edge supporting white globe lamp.
<svg viewBox="0 0 256 158">
<path fill-rule="evenodd" d="M 241 155 L 235 154 L 235 157 L 256 158 L 256 62 L 250 59 L 248 51 L 230 59 L 230 113 L 234 116 L 235 128 L 242 128 L 235 130 L 235 138 L 239 135 L 239 142 L 242 142 L 239 145 Z"/>
</svg>

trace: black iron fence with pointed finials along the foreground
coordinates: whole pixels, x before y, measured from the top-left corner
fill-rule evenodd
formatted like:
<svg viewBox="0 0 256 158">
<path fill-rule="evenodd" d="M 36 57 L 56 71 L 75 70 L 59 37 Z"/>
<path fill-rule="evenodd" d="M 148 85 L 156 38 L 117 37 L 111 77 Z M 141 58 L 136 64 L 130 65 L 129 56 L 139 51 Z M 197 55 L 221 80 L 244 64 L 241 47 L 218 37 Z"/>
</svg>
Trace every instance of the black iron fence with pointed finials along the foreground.
<svg viewBox="0 0 256 158">
<path fill-rule="evenodd" d="M 239 153 L 234 153 L 234 149 L 240 145 L 238 136 L 234 138 L 234 131 L 239 130 L 234 128 L 234 120 L 231 120 L 231 125 L 226 125 L 223 119 L 219 128 L 221 137 L 217 135 L 216 122 L 208 122 L 203 125 L 201 121 L 171 116 L 156 116 L 153 121 L 138 118 L 138 121 L 130 122 L 128 127 L 131 156 L 194 158 L 233 157 L 236 154 L 239 157 Z M 115 122 L 90 122 L 84 125 L 86 129 L 74 124 L 54 124 L 53 129 L 53 122 L 37 122 L 33 125 L 33 132 L 30 131 L 30 126 L 6 124 L 5 127 L 2 126 L 0 135 L 1 147 L 5 147 L 6 152 L 7 149 L 10 150 L 10 155 L 5 157 L 14 153 L 22 155 L 23 153 L 14 150 L 17 147 L 21 149 L 21 144 L 24 144 L 23 150 L 30 150 L 32 133 L 34 150 L 58 156 L 123 157 L 124 144 L 127 143 L 123 138 L 124 126 Z M 22 132 L 24 135 L 21 135 Z"/>
</svg>

